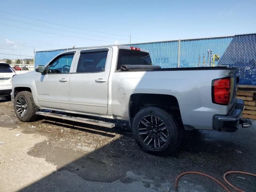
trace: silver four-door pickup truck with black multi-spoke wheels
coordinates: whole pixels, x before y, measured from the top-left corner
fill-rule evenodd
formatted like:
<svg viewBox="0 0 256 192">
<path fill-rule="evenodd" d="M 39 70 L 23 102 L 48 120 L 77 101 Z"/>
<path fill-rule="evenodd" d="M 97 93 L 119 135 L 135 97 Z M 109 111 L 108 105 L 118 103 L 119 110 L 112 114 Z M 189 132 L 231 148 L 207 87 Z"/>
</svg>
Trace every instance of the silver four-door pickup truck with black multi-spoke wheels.
<svg viewBox="0 0 256 192">
<path fill-rule="evenodd" d="M 167 155 L 183 130 L 234 132 L 239 123 L 251 125 L 240 120 L 237 74 L 226 67 L 161 69 L 148 51 L 130 46 L 79 48 L 14 76 L 11 96 L 21 121 L 44 115 L 109 125 L 77 114 L 127 120 L 142 150 Z"/>
</svg>

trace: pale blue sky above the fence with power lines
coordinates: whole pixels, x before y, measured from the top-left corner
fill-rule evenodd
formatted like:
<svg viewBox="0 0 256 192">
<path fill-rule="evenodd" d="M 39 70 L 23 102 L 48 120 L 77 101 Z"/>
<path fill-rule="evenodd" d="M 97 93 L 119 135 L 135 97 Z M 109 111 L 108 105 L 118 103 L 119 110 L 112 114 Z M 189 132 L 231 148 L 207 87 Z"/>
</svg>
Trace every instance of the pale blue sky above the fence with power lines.
<svg viewBox="0 0 256 192">
<path fill-rule="evenodd" d="M 256 0 L 1 1 L 0 59 L 129 44 L 130 36 L 137 43 L 255 33 L 255 10 Z"/>
</svg>

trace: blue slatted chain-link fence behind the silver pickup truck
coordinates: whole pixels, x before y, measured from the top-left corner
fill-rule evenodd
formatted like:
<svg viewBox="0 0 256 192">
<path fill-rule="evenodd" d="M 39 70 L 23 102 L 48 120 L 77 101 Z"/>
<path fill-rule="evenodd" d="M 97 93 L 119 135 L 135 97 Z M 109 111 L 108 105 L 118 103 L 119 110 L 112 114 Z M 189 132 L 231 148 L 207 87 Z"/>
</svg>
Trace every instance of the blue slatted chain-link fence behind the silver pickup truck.
<svg viewBox="0 0 256 192">
<path fill-rule="evenodd" d="M 149 51 L 152 63 L 162 68 L 178 67 L 178 40 L 129 44 Z M 66 50 L 66 49 L 65 49 Z M 47 64 L 64 50 L 42 51 L 35 54 L 35 66 Z M 180 67 L 213 65 L 240 68 L 240 83 L 256 85 L 256 34 L 228 37 L 180 40 Z"/>
</svg>

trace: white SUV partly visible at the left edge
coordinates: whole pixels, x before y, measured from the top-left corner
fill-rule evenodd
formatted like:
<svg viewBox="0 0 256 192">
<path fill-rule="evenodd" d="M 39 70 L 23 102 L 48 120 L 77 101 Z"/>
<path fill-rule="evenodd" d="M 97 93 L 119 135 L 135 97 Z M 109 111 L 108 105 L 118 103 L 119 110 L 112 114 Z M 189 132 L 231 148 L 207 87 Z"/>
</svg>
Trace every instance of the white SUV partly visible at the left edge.
<svg viewBox="0 0 256 192">
<path fill-rule="evenodd" d="M 0 62 L 0 97 L 10 98 L 14 75 L 16 73 L 8 63 Z"/>
</svg>

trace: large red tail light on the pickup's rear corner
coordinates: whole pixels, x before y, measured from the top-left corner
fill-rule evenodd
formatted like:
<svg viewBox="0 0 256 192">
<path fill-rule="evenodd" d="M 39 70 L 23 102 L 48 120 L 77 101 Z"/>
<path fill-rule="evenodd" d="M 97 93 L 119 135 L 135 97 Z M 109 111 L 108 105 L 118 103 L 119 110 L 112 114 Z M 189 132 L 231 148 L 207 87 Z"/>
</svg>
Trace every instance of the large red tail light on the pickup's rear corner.
<svg viewBox="0 0 256 192">
<path fill-rule="evenodd" d="M 214 79 L 212 81 L 212 102 L 228 105 L 230 102 L 230 77 Z"/>
</svg>

